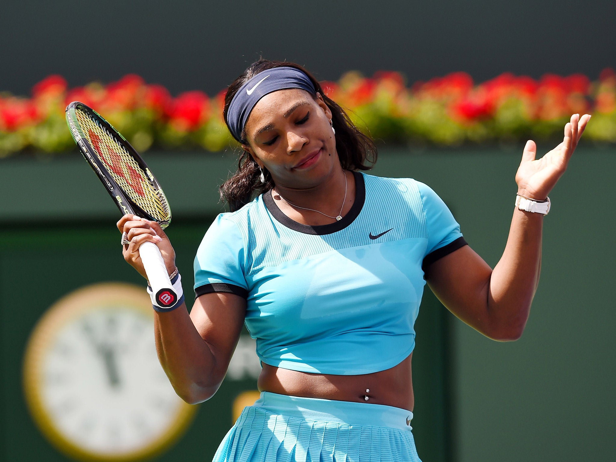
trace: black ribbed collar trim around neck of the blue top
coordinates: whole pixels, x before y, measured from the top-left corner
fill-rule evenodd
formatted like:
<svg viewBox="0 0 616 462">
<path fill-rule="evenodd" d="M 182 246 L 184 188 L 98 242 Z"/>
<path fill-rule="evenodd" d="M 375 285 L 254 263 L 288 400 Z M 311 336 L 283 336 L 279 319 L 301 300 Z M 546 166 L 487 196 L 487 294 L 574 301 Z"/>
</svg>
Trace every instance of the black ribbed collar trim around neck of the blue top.
<svg viewBox="0 0 616 462">
<path fill-rule="evenodd" d="M 289 229 L 300 233 L 317 236 L 335 233 L 336 231 L 346 228 L 355 220 L 355 218 L 357 218 L 359 213 L 362 211 L 363 203 L 366 200 L 366 186 L 363 182 L 363 175 L 360 172 L 351 173 L 355 177 L 355 201 L 351 206 L 351 210 L 349 210 L 349 212 L 342 217 L 341 221 L 336 221 L 326 225 L 310 226 L 291 220 L 278 208 L 277 203 L 274 201 L 274 198 L 272 198 L 271 190 L 263 193 L 263 202 L 265 203 L 265 207 L 269 210 L 269 213 L 272 214 L 276 221 L 282 225 L 285 225 Z"/>
</svg>

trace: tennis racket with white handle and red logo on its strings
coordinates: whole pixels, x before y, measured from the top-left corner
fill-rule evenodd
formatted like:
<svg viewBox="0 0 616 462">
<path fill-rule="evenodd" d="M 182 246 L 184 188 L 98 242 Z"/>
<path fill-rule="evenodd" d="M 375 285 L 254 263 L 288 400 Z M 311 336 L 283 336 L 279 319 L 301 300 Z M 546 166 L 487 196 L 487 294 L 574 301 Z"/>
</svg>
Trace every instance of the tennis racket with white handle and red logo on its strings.
<svg viewBox="0 0 616 462">
<path fill-rule="evenodd" d="M 161 228 L 166 228 L 171 222 L 169 202 L 137 151 L 84 103 L 70 103 L 66 116 L 75 143 L 120 212 L 157 221 Z M 158 304 L 161 307 L 174 304 L 177 294 L 158 247 L 145 242 L 139 247 L 139 255 Z"/>
</svg>

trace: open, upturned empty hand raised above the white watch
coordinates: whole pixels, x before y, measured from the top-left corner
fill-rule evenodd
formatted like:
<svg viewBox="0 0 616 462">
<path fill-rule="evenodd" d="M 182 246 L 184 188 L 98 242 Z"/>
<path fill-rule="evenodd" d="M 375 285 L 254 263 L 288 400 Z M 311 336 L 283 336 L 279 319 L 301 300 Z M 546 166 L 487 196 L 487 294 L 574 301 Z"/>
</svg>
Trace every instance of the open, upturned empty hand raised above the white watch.
<svg viewBox="0 0 616 462">
<path fill-rule="evenodd" d="M 567 163 L 582 136 L 590 115 L 573 114 L 571 121 L 565 125 L 565 136 L 545 156 L 535 160 L 537 145 L 529 140 L 522 153 L 522 162 L 516 173 L 517 193 L 534 200 L 545 200 L 561 175 L 567 169 Z"/>
</svg>

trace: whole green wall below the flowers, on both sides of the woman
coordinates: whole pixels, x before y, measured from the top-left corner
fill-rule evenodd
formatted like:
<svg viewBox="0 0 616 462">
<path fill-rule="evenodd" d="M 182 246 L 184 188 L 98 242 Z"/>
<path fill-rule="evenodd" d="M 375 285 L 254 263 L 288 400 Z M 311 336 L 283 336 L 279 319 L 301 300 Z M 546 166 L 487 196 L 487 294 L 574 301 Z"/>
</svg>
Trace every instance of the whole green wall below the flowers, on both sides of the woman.
<svg viewBox="0 0 616 462">
<path fill-rule="evenodd" d="M 374 173 L 431 185 L 452 208 L 471 247 L 493 266 L 506 242 L 520 155 L 383 150 Z M 221 209 L 216 185 L 233 169 L 233 154 L 153 153 L 146 160 L 171 202 L 169 235 L 182 274 L 190 278 L 198 241 Z M 610 285 L 616 191 L 609 176 L 615 168 L 616 152 L 580 148 L 551 193 L 541 282 L 519 341 L 484 338 L 426 294 L 413 356 L 413 432 L 424 462 L 609 460 L 616 411 L 616 347 L 609 336 L 616 325 Z M 0 454 L 13 455 L 0 458 L 22 460 L 14 452 L 19 444 L 34 460 L 54 452 L 34 429 L 21 396 L 21 355 L 31 326 L 73 288 L 110 279 L 139 283 L 139 277 L 120 256 L 113 228 L 118 211 L 78 155 L 0 162 L 0 197 Z M 100 265 L 84 266 L 84 249 L 94 251 Z M 49 265 L 55 271 L 47 281 Z M 164 459 L 209 460 L 230 426 L 230 397 L 252 386 L 225 381 Z M 211 415 L 229 418 L 213 427 Z M 63 460 L 54 457 L 42 460 Z"/>
</svg>

